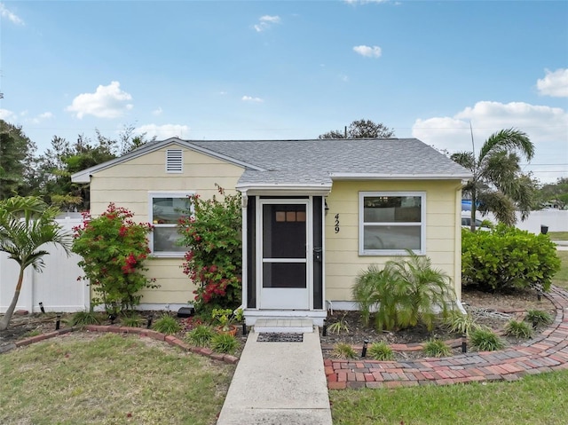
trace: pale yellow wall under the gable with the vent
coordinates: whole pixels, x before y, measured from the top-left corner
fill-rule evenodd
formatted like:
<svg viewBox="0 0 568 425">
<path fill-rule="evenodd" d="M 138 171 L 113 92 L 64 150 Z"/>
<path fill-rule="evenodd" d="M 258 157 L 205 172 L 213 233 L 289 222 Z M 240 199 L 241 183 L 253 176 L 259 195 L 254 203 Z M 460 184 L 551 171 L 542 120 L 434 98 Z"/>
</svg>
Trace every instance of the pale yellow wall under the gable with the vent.
<svg viewBox="0 0 568 425">
<path fill-rule="evenodd" d="M 130 209 L 136 222 L 149 221 L 148 192 L 195 192 L 202 198 L 217 193 L 215 184 L 235 193 L 243 168 L 184 149 L 183 173 L 166 173 L 166 150 L 176 144 L 103 169 L 91 177 L 91 214 L 101 214 L 109 202 Z M 143 304 L 185 304 L 195 286 L 182 272 L 182 258 L 149 259 L 148 276 L 161 287 L 143 292 Z"/>
</svg>

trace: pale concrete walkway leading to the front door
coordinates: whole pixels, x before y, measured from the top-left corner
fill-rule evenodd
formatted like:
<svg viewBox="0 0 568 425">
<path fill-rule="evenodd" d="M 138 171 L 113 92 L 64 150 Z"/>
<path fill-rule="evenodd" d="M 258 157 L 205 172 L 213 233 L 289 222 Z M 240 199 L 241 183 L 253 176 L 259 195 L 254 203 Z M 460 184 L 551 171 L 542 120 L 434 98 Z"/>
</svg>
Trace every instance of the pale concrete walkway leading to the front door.
<svg viewBox="0 0 568 425">
<path fill-rule="evenodd" d="M 319 333 L 304 342 L 248 335 L 217 425 L 331 425 Z"/>
</svg>

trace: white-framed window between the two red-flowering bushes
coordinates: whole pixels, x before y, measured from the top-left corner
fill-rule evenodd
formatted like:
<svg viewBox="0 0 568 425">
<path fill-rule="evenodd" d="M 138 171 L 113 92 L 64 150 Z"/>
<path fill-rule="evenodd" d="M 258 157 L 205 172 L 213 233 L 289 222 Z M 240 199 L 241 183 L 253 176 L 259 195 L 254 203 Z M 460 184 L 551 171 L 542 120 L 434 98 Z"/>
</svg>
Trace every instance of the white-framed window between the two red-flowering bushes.
<svg viewBox="0 0 568 425">
<path fill-rule="evenodd" d="M 191 192 L 149 193 L 150 222 L 154 232 L 150 234 L 150 247 L 155 256 L 183 256 L 186 247 L 177 246 L 177 221 L 193 212 L 189 196 Z"/>
</svg>

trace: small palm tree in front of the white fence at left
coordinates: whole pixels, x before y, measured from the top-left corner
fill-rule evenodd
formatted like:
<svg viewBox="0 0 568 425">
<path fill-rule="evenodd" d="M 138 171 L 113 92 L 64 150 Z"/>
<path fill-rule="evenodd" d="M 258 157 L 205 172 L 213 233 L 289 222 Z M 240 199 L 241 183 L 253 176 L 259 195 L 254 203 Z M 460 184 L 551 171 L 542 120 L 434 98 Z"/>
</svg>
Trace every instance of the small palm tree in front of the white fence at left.
<svg viewBox="0 0 568 425">
<path fill-rule="evenodd" d="M 12 319 L 26 268 L 31 265 L 38 272 L 43 269 L 43 256 L 49 254 L 42 249 L 44 245 L 52 243 L 65 249 L 67 255 L 70 252 L 71 234 L 55 221 L 58 213 L 58 209 L 35 196 L 15 196 L 0 201 L 0 251 L 20 264 L 16 290 L 0 321 L 0 330 L 6 329 Z"/>
</svg>

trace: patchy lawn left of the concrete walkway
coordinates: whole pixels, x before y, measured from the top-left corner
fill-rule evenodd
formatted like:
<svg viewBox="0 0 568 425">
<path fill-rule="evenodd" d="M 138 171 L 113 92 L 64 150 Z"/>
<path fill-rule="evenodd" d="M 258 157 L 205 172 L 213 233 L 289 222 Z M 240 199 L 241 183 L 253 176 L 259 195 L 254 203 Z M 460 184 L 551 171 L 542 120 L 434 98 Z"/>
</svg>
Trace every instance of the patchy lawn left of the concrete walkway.
<svg viewBox="0 0 568 425">
<path fill-rule="evenodd" d="M 233 371 L 134 336 L 55 338 L 0 355 L 0 423 L 214 424 Z"/>
</svg>

